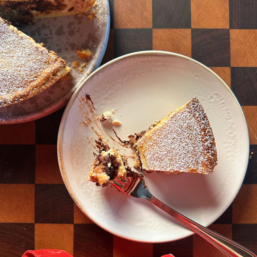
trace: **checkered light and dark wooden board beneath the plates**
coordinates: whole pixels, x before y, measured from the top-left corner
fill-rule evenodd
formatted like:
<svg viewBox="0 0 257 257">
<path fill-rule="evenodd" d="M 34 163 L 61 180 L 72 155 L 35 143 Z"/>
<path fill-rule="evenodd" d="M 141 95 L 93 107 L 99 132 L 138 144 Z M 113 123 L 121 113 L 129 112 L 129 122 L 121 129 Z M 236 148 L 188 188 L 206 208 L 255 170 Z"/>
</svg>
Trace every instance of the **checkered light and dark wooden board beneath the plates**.
<svg viewBox="0 0 257 257">
<path fill-rule="evenodd" d="M 257 5 L 252 0 L 110 0 L 102 63 L 141 50 L 184 54 L 213 69 L 242 106 L 250 136 L 243 185 L 210 228 L 257 253 Z M 64 108 L 36 121 L 0 125 L 0 256 L 55 248 L 74 257 L 224 256 L 197 235 L 138 243 L 92 223 L 74 204 L 57 160 Z"/>
</svg>

